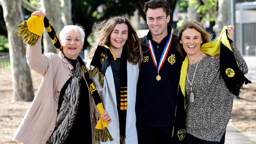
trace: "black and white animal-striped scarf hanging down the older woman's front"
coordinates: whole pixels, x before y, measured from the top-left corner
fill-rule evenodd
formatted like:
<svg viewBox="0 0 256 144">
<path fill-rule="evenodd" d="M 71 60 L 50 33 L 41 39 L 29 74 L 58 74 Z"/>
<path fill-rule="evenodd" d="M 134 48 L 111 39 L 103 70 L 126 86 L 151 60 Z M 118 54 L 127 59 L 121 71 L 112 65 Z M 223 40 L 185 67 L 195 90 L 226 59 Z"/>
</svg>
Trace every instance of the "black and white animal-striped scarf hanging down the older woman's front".
<svg viewBox="0 0 256 144">
<path fill-rule="evenodd" d="M 80 79 L 82 78 L 82 69 L 78 61 L 76 61 L 76 70 L 72 69 L 71 72 L 72 79 L 63 95 L 64 100 L 59 109 L 56 127 L 47 144 L 65 143 L 76 117 L 80 97 Z"/>
</svg>

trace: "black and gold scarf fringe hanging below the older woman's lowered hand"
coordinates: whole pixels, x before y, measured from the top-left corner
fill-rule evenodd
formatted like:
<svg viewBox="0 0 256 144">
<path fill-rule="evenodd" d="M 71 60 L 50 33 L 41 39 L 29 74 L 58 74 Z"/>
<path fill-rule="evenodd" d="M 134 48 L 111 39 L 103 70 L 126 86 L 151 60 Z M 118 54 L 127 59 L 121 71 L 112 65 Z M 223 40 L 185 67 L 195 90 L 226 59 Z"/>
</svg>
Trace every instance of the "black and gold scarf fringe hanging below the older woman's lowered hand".
<svg viewBox="0 0 256 144">
<path fill-rule="evenodd" d="M 104 127 L 104 129 L 96 129 L 95 135 L 94 135 L 94 141 L 95 142 L 107 142 L 107 141 L 113 141 L 113 137 L 110 135 L 108 128 Z"/>
</svg>

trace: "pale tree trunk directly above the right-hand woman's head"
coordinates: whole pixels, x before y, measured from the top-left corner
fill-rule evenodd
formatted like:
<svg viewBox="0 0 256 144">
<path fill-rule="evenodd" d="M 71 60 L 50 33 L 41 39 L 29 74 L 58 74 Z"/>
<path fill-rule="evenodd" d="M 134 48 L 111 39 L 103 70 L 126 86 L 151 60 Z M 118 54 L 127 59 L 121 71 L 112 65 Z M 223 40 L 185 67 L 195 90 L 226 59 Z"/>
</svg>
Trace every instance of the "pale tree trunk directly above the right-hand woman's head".
<svg viewBox="0 0 256 144">
<path fill-rule="evenodd" d="M 201 5 L 201 0 L 196 0 L 196 4 L 193 4 L 193 6 L 190 6 L 191 3 L 194 3 L 195 0 L 189 0 L 189 7 L 187 7 L 187 13 L 188 13 L 188 18 L 192 20 L 196 20 L 197 22 L 200 22 L 200 13 L 197 13 L 197 6 Z"/>
</svg>

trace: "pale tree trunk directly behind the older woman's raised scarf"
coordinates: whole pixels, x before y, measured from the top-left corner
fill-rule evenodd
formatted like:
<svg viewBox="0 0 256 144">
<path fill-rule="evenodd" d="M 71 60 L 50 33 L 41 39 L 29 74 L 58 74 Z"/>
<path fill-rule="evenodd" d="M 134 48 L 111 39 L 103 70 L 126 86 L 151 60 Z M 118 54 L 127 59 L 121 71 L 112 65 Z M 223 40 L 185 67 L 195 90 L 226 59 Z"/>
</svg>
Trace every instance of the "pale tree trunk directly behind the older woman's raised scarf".
<svg viewBox="0 0 256 144">
<path fill-rule="evenodd" d="M 59 35 L 59 31 L 63 28 L 63 23 L 60 18 L 61 11 L 59 0 L 41 0 L 41 9 L 43 12 L 47 13 L 46 17 L 52 23 L 52 26 L 54 27 L 57 35 Z M 52 44 L 52 40 L 50 39 L 46 30 L 44 30 L 43 33 L 43 43 L 44 54 L 47 52 L 57 54 L 58 50 Z"/>
</svg>

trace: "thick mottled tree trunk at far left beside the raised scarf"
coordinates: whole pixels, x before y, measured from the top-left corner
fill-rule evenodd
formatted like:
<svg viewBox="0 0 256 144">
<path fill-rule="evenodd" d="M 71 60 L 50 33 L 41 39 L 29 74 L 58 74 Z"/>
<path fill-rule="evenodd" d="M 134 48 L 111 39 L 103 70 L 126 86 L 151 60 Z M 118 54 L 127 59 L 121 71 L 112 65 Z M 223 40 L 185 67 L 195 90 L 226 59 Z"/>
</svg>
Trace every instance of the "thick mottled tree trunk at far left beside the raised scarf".
<svg viewBox="0 0 256 144">
<path fill-rule="evenodd" d="M 34 94 L 30 68 L 26 62 L 26 45 L 22 37 L 17 37 L 17 26 L 24 21 L 21 0 L 0 0 L 0 4 L 8 32 L 13 97 L 16 101 L 32 101 Z"/>
</svg>

